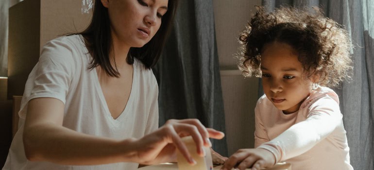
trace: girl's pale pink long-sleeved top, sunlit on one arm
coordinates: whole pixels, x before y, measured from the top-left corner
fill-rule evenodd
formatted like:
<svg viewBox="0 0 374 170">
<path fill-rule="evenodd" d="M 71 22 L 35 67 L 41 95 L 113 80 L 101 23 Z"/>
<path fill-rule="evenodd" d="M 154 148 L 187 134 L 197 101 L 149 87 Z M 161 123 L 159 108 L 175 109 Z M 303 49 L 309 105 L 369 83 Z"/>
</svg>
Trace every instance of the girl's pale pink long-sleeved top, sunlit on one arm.
<svg viewBox="0 0 374 170">
<path fill-rule="evenodd" d="M 313 90 L 300 109 L 284 114 L 263 95 L 255 108 L 255 147 L 271 151 L 292 170 L 353 170 L 338 95 Z"/>
</svg>

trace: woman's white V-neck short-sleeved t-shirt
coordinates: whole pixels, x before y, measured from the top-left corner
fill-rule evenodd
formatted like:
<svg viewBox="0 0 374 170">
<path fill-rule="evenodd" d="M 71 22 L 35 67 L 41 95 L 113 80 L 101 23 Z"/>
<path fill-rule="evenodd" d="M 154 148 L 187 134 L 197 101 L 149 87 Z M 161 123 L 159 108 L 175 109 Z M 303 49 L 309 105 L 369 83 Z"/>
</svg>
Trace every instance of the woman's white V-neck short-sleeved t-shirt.
<svg viewBox="0 0 374 170">
<path fill-rule="evenodd" d="M 131 94 L 117 119 L 105 102 L 96 69 L 87 69 L 91 56 L 81 35 L 48 42 L 29 75 L 19 111 L 19 130 L 13 139 L 3 170 L 135 170 L 137 163 L 99 166 L 63 166 L 28 161 L 22 142 L 27 102 L 51 97 L 65 104 L 63 126 L 93 136 L 140 138 L 158 128 L 158 86 L 152 70 L 134 59 Z M 58 146 L 56 146 L 58 147 Z"/>
</svg>

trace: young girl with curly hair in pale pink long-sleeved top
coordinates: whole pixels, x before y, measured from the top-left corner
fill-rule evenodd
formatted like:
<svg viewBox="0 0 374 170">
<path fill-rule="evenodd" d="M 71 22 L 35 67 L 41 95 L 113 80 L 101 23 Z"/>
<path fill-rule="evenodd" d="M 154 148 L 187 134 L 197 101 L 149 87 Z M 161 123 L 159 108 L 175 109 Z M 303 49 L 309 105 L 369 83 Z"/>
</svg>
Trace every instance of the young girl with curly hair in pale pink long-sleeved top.
<svg viewBox="0 0 374 170">
<path fill-rule="evenodd" d="M 338 95 L 348 77 L 347 32 L 318 10 L 259 7 L 247 29 L 239 68 L 261 76 L 255 107 L 255 149 L 240 149 L 222 169 L 291 163 L 292 170 L 353 170 Z"/>
</svg>

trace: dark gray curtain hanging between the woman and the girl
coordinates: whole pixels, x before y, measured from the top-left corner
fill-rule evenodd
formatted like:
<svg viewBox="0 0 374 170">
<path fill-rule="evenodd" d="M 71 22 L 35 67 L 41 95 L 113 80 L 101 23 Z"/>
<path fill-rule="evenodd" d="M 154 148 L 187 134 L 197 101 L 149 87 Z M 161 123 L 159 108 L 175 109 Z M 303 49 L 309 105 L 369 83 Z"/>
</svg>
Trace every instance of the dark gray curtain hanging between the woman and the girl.
<svg viewBox="0 0 374 170">
<path fill-rule="evenodd" d="M 159 124 L 197 118 L 225 132 L 213 0 L 180 0 L 174 28 L 153 68 L 159 86 Z M 225 138 L 212 140 L 227 156 Z"/>
</svg>

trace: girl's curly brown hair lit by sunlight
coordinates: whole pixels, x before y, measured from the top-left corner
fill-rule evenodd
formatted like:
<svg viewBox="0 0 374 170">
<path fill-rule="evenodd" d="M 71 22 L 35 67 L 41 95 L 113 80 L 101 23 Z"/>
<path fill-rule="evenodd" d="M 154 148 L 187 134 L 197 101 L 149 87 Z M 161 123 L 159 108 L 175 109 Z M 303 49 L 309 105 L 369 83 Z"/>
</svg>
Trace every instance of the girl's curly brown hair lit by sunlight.
<svg viewBox="0 0 374 170">
<path fill-rule="evenodd" d="M 268 13 L 263 6 L 256 8 L 239 37 L 238 68 L 245 77 L 261 77 L 261 52 L 275 41 L 293 47 L 306 75 L 319 76 L 319 85 L 337 86 L 350 77 L 352 44 L 348 33 L 334 20 L 323 17 L 320 9 L 282 6 Z"/>
</svg>

